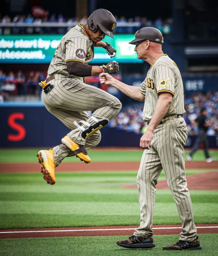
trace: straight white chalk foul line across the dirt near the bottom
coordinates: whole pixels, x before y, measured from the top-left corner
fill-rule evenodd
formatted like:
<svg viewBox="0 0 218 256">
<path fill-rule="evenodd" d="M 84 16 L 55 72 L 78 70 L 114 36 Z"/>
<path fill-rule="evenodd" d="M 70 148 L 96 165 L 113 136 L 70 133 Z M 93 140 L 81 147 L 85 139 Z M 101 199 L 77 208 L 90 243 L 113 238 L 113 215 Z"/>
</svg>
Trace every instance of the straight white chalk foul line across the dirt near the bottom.
<svg viewBox="0 0 218 256">
<path fill-rule="evenodd" d="M 162 228 L 152 228 L 152 229 L 181 229 L 182 227 L 162 227 Z M 218 226 L 206 226 L 197 227 L 199 228 L 218 228 Z M 77 232 L 77 231 L 108 231 L 108 230 L 135 230 L 135 228 L 103 228 L 103 229 L 67 229 L 67 230 L 30 230 L 30 231 L 9 231 L 0 232 L 0 234 L 5 233 L 34 233 L 34 232 Z"/>
</svg>

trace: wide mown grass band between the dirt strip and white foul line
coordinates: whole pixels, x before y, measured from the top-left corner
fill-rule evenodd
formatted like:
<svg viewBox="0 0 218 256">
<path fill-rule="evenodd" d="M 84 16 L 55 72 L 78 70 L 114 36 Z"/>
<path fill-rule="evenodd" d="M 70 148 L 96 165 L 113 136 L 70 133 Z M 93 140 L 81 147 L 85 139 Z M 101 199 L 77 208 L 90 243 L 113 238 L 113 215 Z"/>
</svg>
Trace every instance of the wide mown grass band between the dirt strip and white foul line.
<svg viewBox="0 0 218 256">
<path fill-rule="evenodd" d="M 204 170 L 201 170 L 201 172 Z M 187 171 L 187 175 L 198 173 Z M 137 189 L 133 172 L 57 173 L 47 185 L 41 173 L 1 174 L 0 228 L 138 225 Z M 160 179 L 164 179 L 164 173 Z M 218 191 L 191 191 L 196 223 L 218 222 Z M 49 214 L 49 220 L 42 218 Z M 180 224 L 169 190 L 157 190 L 154 224 Z"/>
</svg>

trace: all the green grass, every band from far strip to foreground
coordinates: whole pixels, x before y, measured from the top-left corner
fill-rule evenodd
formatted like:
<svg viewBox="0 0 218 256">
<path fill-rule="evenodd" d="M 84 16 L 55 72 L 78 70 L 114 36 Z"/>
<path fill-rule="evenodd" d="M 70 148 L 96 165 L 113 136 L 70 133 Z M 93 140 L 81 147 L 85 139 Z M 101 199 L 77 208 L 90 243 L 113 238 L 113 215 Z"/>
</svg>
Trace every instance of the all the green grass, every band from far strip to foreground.
<svg viewBox="0 0 218 256">
<path fill-rule="evenodd" d="M 38 149 L 0 150 L 1 163 L 37 162 Z M 140 161 L 141 150 L 91 150 L 92 161 Z M 218 158 L 217 151 L 211 156 Z M 201 151 L 194 160 L 205 158 Z M 75 157 L 66 162 L 78 161 Z M 81 163 L 83 165 L 83 163 Z M 103 164 L 104 165 L 104 164 Z M 187 170 L 187 175 L 206 170 Z M 218 171 L 218 170 L 216 170 Z M 122 185 L 136 184 L 135 171 L 57 172 L 56 184 L 47 185 L 39 173 L 0 173 L 0 229 L 138 225 L 137 189 Z M 159 180 L 165 179 L 162 172 Z M 191 190 L 195 223 L 218 223 L 218 191 Z M 49 222 L 44 216 L 49 216 Z M 176 204 L 169 190 L 157 190 L 154 224 L 180 224 Z M 200 234 L 203 250 L 196 255 L 218 255 L 217 234 Z M 154 236 L 156 247 L 128 250 L 116 245 L 124 237 L 62 237 L 1 239 L 0 255 L 174 255 L 162 246 L 178 240 L 177 235 Z M 178 255 L 190 255 L 178 251 Z"/>
</svg>

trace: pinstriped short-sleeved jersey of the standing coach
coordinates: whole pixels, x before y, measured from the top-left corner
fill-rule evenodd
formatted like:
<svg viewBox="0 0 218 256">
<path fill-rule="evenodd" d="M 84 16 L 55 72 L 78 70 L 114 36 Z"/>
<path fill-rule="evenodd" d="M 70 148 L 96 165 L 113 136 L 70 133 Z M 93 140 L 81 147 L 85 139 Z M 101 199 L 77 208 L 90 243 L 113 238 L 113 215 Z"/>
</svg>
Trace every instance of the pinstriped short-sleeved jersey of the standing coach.
<svg viewBox="0 0 218 256">
<path fill-rule="evenodd" d="M 145 96 L 143 120 L 149 122 L 154 114 L 160 92 L 172 94 L 172 103 L 165 116 L 184 114 L 184 90 L 179 68 L 166 54 L 159 56 L 147 72 L 139 90 Z"/>
</svg>

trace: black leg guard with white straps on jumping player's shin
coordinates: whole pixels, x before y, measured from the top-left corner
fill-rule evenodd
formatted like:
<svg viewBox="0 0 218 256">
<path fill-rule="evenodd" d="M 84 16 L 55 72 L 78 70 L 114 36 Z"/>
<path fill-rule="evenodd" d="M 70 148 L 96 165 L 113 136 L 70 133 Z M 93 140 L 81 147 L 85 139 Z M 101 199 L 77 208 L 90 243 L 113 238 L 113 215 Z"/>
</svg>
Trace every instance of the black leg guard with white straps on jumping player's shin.
<svg viewBox="0 0 218 256">
<path fill-rule="evenodd" d="M 76 121 L 73 122 L 77 128 L 80 128 L 80 130 L 82 130 L 81 135 L 84 139 L 88 138 L 90 135 L 100 130 L 102 127 L 106 126 L 110 122 L 107 118 L 98 120 L 97 118 L 91 116 L 91 119 L 95 121 L 93 125 L 90 125 L 88 122 L 84 120 L 80 121 L 80 123 L 85 124 L 88 128 L 80 126 Z"/>
</svg>

